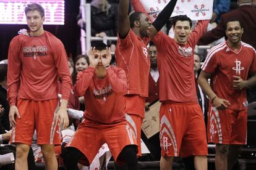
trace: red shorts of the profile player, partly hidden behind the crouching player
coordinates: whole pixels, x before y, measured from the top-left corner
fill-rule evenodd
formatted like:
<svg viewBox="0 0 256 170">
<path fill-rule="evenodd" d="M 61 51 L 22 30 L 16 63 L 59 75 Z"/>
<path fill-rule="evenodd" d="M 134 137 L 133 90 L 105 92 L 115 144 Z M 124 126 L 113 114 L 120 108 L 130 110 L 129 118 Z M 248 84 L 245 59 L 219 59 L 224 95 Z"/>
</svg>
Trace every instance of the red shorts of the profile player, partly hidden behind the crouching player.
<svg viewBox="0 0 256 170">
<path fill-rule="evenodd" d="M 142 137 L 141 129 L 143 118 L 139 115 L 126 114 L 126 120 L 129 125 L 129 132 L 137 140 L 138 154 L 137 156 L 142 156 L 142 145 L 140 138 Z"/>
</svg>

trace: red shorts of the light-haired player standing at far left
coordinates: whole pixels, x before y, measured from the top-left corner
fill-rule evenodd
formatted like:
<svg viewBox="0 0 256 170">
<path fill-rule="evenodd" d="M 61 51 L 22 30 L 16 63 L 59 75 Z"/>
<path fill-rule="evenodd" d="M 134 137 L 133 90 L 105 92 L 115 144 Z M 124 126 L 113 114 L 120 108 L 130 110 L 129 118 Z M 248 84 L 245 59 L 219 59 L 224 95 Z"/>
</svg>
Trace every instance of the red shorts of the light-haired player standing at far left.
<svg viewBox="0 0 256 170">
<path fill-rule="evenodd" d="M 16 126 L 12 129 L 11 143 L 32 144 L 36 129 L 37 144 L 61 144 L 57 112 L 59 100 L 33 101 L 18 99 L 17 108 L 20 119 L 15 118 Z"/>
</svg>

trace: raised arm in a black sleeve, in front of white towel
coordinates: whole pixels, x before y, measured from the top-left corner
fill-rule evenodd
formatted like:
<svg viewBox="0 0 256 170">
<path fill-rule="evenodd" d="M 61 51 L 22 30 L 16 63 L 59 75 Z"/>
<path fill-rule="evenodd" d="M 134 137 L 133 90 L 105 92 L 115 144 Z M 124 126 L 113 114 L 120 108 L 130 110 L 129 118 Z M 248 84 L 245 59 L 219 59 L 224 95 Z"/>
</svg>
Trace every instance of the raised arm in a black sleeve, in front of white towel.
<svg viewBox="0 0 256 170">
<path fill-rule="evenodd" d="M 138 1 L 138 0 L 136 0 Z M 155 21 L 152 23 L 150 27 L 150 38 L 153 39 L 154 36 L 161 30 L 166 22 L 168 22 L 169 17 L 173 13 L 174 7 L 176 5 L 177 0 L 171 0 L 163 10 L 161 10 L 158 17 L 156 17 Z"/>
</svg>

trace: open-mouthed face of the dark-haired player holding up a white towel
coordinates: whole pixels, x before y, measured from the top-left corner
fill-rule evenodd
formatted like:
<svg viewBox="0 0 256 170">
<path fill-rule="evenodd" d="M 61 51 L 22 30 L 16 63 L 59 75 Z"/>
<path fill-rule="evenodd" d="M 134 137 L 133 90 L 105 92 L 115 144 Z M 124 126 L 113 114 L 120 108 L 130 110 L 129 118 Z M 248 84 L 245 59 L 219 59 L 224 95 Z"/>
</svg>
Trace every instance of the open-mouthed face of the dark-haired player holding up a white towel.
<svg viewBox="0 0 256 170">
<path fill-rule="evenodd" d="M 189 34 L 191 33 L 189 21 L 180 21 L 176 22 L 174 26 L 174 40 L 179 44 L 186 44 Z"/>
</svg>

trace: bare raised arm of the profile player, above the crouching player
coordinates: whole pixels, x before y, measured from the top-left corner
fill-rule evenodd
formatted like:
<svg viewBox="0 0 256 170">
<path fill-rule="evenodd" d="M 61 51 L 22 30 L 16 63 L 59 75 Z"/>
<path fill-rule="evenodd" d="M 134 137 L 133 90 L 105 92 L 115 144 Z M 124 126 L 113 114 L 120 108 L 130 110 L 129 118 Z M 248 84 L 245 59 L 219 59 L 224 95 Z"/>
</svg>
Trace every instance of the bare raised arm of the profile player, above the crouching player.
<svg viewBox="0 0 256 170">
<path fill-rule="evenodd" d="M 119 37 L 124 39 L 130 30 L 130 21 L 128 17 L 129 0 L 120 0 L 117 18 L 117 31 Z"/>
</svg>

